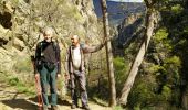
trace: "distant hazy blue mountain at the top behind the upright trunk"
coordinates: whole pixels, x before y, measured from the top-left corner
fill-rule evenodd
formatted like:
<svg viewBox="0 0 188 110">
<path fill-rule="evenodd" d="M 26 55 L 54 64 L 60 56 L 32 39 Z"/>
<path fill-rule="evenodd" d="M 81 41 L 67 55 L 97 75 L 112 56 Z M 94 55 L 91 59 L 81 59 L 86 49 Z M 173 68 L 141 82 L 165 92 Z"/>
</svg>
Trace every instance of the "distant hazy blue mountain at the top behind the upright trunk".
<svg viewBox="0 0 188 110">
<path fill-rule="evenodd" d="M 97 18 L 102 18 L 101 0 L 93 0 L 95 13 Z M 133 13 L 145 11 L 145 4 L 139 2 L 115 2 L 107 1 L 107 12 L 109 23 L 113 25 L 119 24 L 126 16 Z"/>
</svg>

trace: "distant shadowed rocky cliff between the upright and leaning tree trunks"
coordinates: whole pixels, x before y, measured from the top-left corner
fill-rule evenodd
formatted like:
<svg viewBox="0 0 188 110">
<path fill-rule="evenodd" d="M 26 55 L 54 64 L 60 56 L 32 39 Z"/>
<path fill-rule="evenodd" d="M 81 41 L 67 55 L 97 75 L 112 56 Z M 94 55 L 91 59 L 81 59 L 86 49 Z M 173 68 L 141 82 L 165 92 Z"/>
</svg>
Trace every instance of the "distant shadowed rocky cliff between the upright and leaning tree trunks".
<svg viewBox="0 0 188 110">
<path fill-rule="evenodd" d="M 116 37 L 114 40 L 114 54 L 124 55 L 124 50 L 135 41 L 142 37 L 144 32 L 144 13 L 130 14 L 123 20 L 116 29 Z"/>
</svg>

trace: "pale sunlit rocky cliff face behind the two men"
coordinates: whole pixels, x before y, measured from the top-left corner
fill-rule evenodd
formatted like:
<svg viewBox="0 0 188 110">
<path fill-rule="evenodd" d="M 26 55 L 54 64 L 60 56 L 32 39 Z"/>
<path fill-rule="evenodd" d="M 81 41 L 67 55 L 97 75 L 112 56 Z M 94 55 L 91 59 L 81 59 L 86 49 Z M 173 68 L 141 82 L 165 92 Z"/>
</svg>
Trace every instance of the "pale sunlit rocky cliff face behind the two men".
<svg viewBox="0 0 188 110">
<path fill-rule="evenodd" d="M 34 54 L 35 44 L 42 40 L 40 32 L 46 25 L 55 30 L 62 57 L 72 34 L 79 34 L 82 41 L 98 42 L 98 24 L 91 0 L 1 0 L 1 72 L 29 69 L 32 73 L 29 56 Z"/>
</svg>

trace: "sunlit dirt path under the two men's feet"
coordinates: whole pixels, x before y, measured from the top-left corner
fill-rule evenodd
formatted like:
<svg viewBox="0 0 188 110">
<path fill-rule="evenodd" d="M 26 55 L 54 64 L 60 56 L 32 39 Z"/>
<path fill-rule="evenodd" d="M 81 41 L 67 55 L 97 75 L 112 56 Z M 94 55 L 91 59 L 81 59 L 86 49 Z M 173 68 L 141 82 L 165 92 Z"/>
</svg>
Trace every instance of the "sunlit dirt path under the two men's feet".
<svg viewBox="0 0 188 110">
<path fill-rule="evenodd" d="M 92 110 L 112 110 L 108 107 L 93 101 L 90 101 L 88 106 Z M 71 101 L 69 98 L 59 99 L 60 110 L 71 110 L 70 107 Z M 0 78 L 0 110 L 38 110 L 38 98 L 27 97 L 23 92 L 18 92 L 14 87 L 7 85 L 6 81 Z"/>
</svg>

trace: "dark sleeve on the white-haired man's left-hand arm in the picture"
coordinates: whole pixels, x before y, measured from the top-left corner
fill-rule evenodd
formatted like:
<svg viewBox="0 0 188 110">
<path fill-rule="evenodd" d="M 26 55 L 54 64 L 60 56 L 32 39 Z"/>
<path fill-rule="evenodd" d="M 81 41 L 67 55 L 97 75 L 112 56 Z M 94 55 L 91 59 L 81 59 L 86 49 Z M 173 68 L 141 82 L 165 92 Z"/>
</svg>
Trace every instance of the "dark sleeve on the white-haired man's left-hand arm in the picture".
<svg viewBox="0 0 188 110">
<path fill-rule="evenodd" d="M 40 61 L 40 55 L 41 55 L 41 51 L 40 51 L 40 43 L 36 45 L 36 50 L 35 50 L 35 58 L 34 58 L 34 74 L 38 74 L 38 62 Z"/>
</svg>

